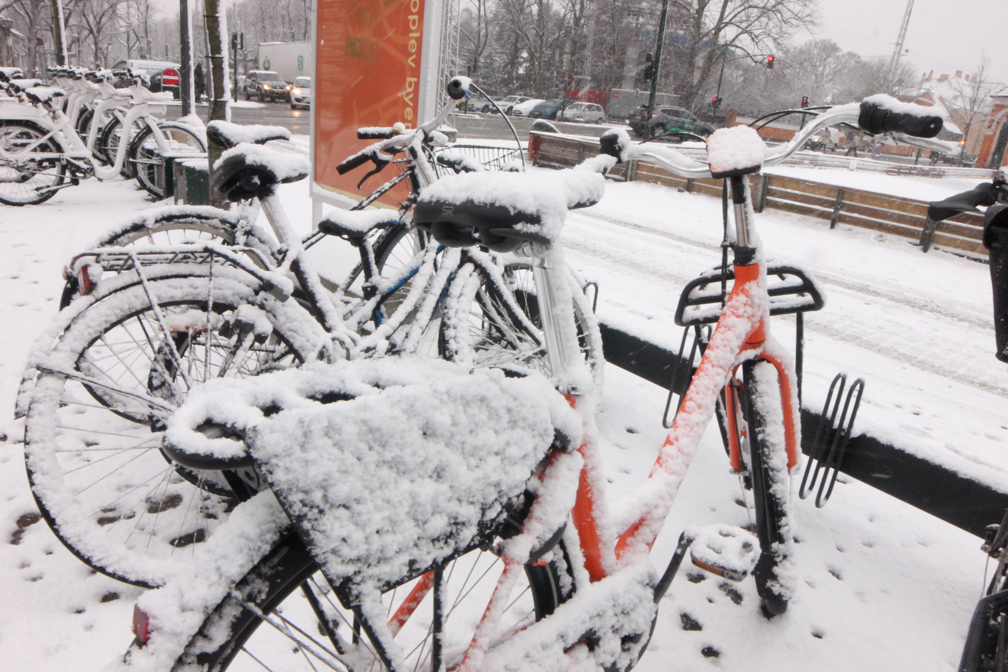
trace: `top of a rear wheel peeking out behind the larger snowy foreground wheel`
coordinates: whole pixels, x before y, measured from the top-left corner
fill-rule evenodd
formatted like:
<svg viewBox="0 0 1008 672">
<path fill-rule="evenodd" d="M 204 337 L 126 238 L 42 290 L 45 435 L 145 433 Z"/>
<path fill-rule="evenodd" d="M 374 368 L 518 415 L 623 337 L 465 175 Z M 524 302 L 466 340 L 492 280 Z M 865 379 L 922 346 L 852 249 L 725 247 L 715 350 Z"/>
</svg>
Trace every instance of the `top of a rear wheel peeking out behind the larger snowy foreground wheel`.
<svg viewBox="0 0 1008 672">
<path fill-rule="evenodd" d="M 276 245 L 261 229 L 242 228 L 238 213 L 210 206 L 169 206 L 143 211 L 133 219 L 107 231 L 95 242 L 94 247 L 159 247 L 205 241 L 223 245 L 237 243 L 252 247 L 267 258 L 275 257 L 276 254 Z M 249 256 L 253 262 L 258 261 L 254 255 Z M 117 270 L 105 271 L 102 279 L 118 273 Z M 180 269 L 179 273 L 184 274 L 185 271 Z M 70 305 L 79 292 L 80 278 L 70 274 L 59 298 L 59 309 L 62 310 Z"/>
</svg>

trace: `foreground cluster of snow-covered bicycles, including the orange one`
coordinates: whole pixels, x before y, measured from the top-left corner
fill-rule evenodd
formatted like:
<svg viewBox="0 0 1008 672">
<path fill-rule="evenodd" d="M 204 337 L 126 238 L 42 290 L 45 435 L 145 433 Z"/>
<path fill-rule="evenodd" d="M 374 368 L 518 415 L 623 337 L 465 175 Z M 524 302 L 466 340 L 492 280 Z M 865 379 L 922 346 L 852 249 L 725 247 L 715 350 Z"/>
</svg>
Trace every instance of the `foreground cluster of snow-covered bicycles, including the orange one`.
<svg viewBox="0 0 1008 672">
<path fill-rule="evenodd" d="M 56 536 L 95 570 L 156 588 L 125 669 L 623 672 L 687 552 L 725 579 L 752 574 L 766 618 L 786 611 L 798 381 L 769 329 L 823 300 L 802 271 L 762 261 L 748 175 L 830 125 L 912 141 L 940 119 L 875 97 L 773 149 L 720 130 L 709 162 L 610 130 L 577 169 L 526 174 L 447 146 L 435 129 L 453 107 L 415 130 L 361 129 L 376 142 L 340 172 L 397 174 L 306 237 L 277 188 L 310 166 L 267 146 L 289 133 L 212 122 L 231 210 L 138 214 L 68 265 L 17 412 Z M 702 358 L 668 439 L 610 509 L 601 332 L 557 239 L 628 160 L 723 178 L 724 254 L 676 312 Z M 399 182 L 398 211 L 367 208 Z M 360 255 L 345 277 L 306 254 L 332 237 Z M 651 546 L 714 417 L 753 532 L 684 531 L 659 576 Z M 820 477 L 822 495 L 816 469 L 802 496 Z"/>
</svg>

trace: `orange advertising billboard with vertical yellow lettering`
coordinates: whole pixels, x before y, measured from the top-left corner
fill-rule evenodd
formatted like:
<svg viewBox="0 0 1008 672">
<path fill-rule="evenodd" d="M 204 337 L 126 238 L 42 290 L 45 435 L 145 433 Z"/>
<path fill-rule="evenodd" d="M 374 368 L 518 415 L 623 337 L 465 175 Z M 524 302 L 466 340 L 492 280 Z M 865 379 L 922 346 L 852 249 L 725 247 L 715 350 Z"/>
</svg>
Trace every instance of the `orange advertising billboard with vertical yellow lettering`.
<svg viewBox="0 0 1008 672">
<path fill-rule="evenodd" d="M 437 0 L 318 0 L 312 83 L 312 163 L 314 196 L 341 194 L 354 199 L 397 174 L 386 168 L 361 187 L 373 167 L 366 164 L 340 175 L 345 158 L 374 140 L 358 140 L 357 129 L 402 122 L 415 128 L 421 114 L 425 5 Z M 427 45 L 429 51 L 429 47 Z M 422 123 L 422 120 L 420 120 Z M 406 197 L 404 183 L 381 197 L 394 206 Z"/>
</svg>

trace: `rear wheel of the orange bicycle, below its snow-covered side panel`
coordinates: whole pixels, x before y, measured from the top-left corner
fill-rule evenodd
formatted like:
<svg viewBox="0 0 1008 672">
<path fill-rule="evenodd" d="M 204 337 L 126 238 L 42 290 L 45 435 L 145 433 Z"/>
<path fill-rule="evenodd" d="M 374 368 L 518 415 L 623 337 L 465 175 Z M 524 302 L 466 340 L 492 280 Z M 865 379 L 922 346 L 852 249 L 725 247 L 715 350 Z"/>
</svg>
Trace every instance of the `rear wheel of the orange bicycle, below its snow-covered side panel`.
<svg viewBox="0 0 1008 672">
<path fill-rule="evenodd" d="M 474 557 L 474 554 L 479 555 Z M 478 572 L 470 571 L 465 576 L 461 589 L 457 589 L 457 581 L 454 585 L 452 584 L 452 577 L 456 576 L 456 572 L 458 572 L 457 578 L 462 578 L 465 567 L 470 566 L 470 563 L 473 568 L 479 567 L 483 569 L 485 564 L 490 563 L 491 557 L 495 556 L 490 552 L 476 549 L 454 561 L 459 563 L 459 567 L 463 568 L 461 571 L 451 564 L 446 567 L 445 575 L 449 577 L 446 579 L 448 584 L 446 590 L 449 594 L 451 594 L 453 589 L 456 589 L 457 595 L 461 594 L 462 598 L 468 597 L 477 585 L 474 582 L 473 586 L 469 586 L 469 578 Z M 540 621 L 552 614 L 576 590 L 575 574 L 571 570 L 570 557 L 562 546 L 562 542 L 560 542 L 556 551 L 554 551 L 554 558 L 556 559 L 542 565 L 528 564 L 525 566 L 528 587 L 521 590 L 519 596 L 511 602 L 511 607 L 513 607 L 523 598 L 525 592 L 529 592 L 530 599 L 526 599 L 523 603 L 519 604 L 519 609 L 529 614 L 529 617 L 534 613 L 535 621 Z M 493 564 L 489 564 L 490 568 L 493 566 Z M 489 578 L 487 578 L 488 576 Z M 417 580 L 419 579 L 413 579 L 413 581 L 399 585 L 383 593 L 382 601 L 383 603 L 388 603 L 389 613 L 391 613 L 392 600 L 395 598 L 396 591 L 401 591 L 401 594 L 408 594 L 407 590 L 409 586 L 414 585 Z M 491 569 L 487 569 L 482 575 L 478 576 L 476 581 L 486 581 L 490 589 L 492 589 L 496 581 L 496 575 L 492 573 Z M 312 608 L 309 598 L 304 595 L 298 596 L 293 594 L 298 588 L 302 588 L 302 592 L 305 589 L 310 590 L 312 593 L 322 592 L 326 598 L 325 603 L 322 603 L 323 600 L 319 600 L 319 594 L 316 594 L 316 599 L 319 600 L 322 607 L 323 618 L 329 621 L 328 627 L 333 631 L 340 631 L 342 627 L 344 635 L 349 634 L 348 631 L 353 627 L 351 623 L 353 619 L 352 614 L 349 614 L 342 606 L 338 606 L 338 601 L 334 601 L 328 597 L 326 592 L 332 588 L 328 583 L 325 583 L 325 578 L 322 577 L 322 572 L 319 571 L 310 552 L 308 552 L 296 534 L 289 533 L 266 556 L 259 560 L 255 567 L 235 585 L 230 594 L 211 612 L 204 621 L 200 631 L 193 637 L 185 651 L 175 662 L 173 669 L 179 671 L 181 669 L 191 669 L 186 665 L 196 663 L 200 666 L 200 669 L 223 672 L 231 668 L 233 663 L 239 663 L 235 665 L 235 668 L 244 668 L 241 665 L 242 662 L 248 662 L 249 669 L 261 669 L 252 668 L 252 665 L 264 665 L 267 666 L 266 669 L 274 669 L 268 667 L 268 665 L 272 662 L 271 657 L 276 654 L 279 654 L 278 657 L 283 662 L 287 662 L 288 664 L 293 663 L 289 653 L 290 647 L 283 647 L 280 644 L 279 646 L 282 648 L 278 649 L 274 630 L 272 628 L 263 628 L 260 630 L 260 626 L 264 623 L 263 620 L 246 604 L 252 604 L 266 615 L 277 614 L 277 610 L 280 609 L 282 610 L 284 621 L 294 623 L 300 629 L 301 633 L 311 634 L 312 637 L 318 634 L 317 641 L 322 640 L 328 646 L 332 647 L 333 645 L 326 633 L 327 625 L 323 624 L 323 619 L 319 617 L 319 612 Z M 463 594 L 463 590 L 467 590 L 465 594 Z M 516 592 L 519 592 L 519 590 L 516 589 L 511 594 L 514 595 Z M 474 601 L 480 602 L 480 597 L 483 597 L 485 594 L 487 592 L 484 589 L 478 590 L 474 596 Z M 419 616 L 423 604 L 429 603 L 431 602 L 428 596 L 427 601 L 421 602 L 421 606 L 417 608 L 416 614 Z M 451 598 L 446 600 L 446 603 L 451 603 Z M 455 604 L 459 603 L 461 603 L 461 599 L 457 599 L 455 602 Z M 480 603 L 479 607 L 482 608 L 483 604 L 485 602 Z M 531 612 L 528 610 L 529 606 L 532 608 Z M 467 608 L 472 609 L 466 606 L 464 614 Z M 334 616 L 337 618 L 332 618 Z M 339 619 L 340 616 L 343 616 L 343 621 Z M 448 616 L 451 616 L 451 612 Z M 478 620 L 477 617 L 474 623 Z M 446 617 L 446 622 L 448 622 L 448 617 Z M 336 628 L 333 628 L 334 623 L 337 624 Z M 407 628 L 409 625 L 407 622 Z M 446 625 L 448 624 L 446 623 Z M 407 654 L 407 664 L 412 662 L 413 659 L 410 656 L 415 654 L 417 667 L 423 669 L 422 662 L 425 660 L 424 652 L 426 651 L 426 647 L 420 643 L 414 644 L 415 640 L 413 639 L 410 639 L 409 644 L 405 646 L 399 642 L 400 638 L 406 639 L 409 635 L 416 635 L 415 629 L 413 632 L 410 632 L 407 628 L 404 628 L 396 637 L 396 643 L 400 644 L 404 653 Z M 425 622 L 421 623 L 420 632 L 424 628 L 426 628 Z M 364 630 L 366 633 L 367 628 L 365 627 Z M 259 637 L 257 640 L 250 642 L 257 631 L 259 632 Z M 471 631 L 467 634 L 471 635 Z M 427 635 L 429 637 L 429 630 L 427 630 Z M 446 638 L 448 638 L 447 634 Z M 347 637 L 344 637 L 344 639 L 347 639 Z M 465 636 L 461 638 L 456 636 L 453 639 L 468 643 L 468 639 Z M 286 643 L 286 641 L 282 640 L 282 643 Z M 308 643 L 308 640 L 305 638 L 303 642 Z M 410 645 L 413 646 L 410 647 Z M 303 664 L 305 670 L 316 669 L 308 658 L 308 654 L 310 653 L 308 648 L 295 647 L 295 653 L 298 650 L 305 655 L 301 659 L 295 660 Z M 248 658 L 241 657 L 242 653 L 245 653 Z M 244 658 L 244 661 L 242 658 Z M 252 661 L 255 662 L 253 663 Z M 284 667 L 284 669 L 292 668 Z M 380 661 L 375 660 L 368 669 L 386 670 L 387 668 Z M 444 669 L 451 669 L 451 667 L 446 666 Z"/>
</svg>

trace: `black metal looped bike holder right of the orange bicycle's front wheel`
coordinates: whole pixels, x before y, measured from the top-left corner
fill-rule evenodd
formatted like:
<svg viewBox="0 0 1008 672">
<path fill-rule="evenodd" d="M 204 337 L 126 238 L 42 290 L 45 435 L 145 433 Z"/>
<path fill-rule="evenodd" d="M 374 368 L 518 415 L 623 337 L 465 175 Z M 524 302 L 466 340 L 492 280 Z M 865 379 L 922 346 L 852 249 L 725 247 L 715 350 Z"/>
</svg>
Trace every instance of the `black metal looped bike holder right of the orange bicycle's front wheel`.
<svg viewBox="0 0 1008 672">
<path fill-rule="evenodd" d="M 844 462 L 844 453 L 847 451 L 847 443 L 851 439 L 851 430 L 854 428 L 854 418 L 858 414 L 861 406 L 861 397 L 865 392 L 865 380 L 859 378 L 847 389 L 847 397 L 844 400 L 844 409 L 840 410 L 840 400 L 844 396 L 847 388 L 847 374 L 837 374 L 830 384 L 830 393 L 826 397 L 826 404 L 823 407 L 823 416 L 820 419 L 818 427 L 815 429 L 815 438 L 812 439 L 812 446 L 808 452 L 808 461 L 805 464 L 805 473 L 801 477 L 801 486 L 798 488 L 798 497 L 806 499 L 815 490 L 816 481 L 818 491 L 815 493 L 815 508 L 822 509 L 833 495 L 833 488 L 837 483 L 837 476 L 840 474 L 840 466 Z M 834 396 L 836 395 L 836 397 Z M 833 403 L 833 411 L 830 404 Z M 837 414 L 840 413 L 838 420 Z M 812 469 L 812 462 L 815 468 Z M 833 476 L 830 476 L 833 469 Z M 822 471 L 822 479 L 820 472 Z M 809 474 L 811 481 L 808 480 Z M 827 482 L 830 487 L 827 488 Z M 807 484 L 807 488 L 805 487 Z M 825 490 L 825 493 L 824 493 Z"/>
</svg>

